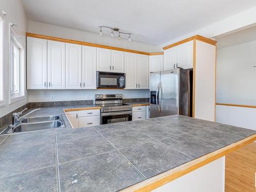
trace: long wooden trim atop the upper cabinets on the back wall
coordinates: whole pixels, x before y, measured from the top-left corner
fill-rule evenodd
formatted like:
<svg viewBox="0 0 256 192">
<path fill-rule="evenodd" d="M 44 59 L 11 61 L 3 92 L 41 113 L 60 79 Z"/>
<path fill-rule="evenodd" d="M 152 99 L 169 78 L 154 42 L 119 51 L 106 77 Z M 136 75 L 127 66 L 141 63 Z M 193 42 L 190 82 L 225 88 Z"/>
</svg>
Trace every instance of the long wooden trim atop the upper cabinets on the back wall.
<svg viewBox="0 0 256 192">
<path fill-rule="evenodd" d="M 100 44 L 93 44 L 92 42 L 85 42 L 85 41 L 79 41 L 79 40 L 73 40 L 73 39 L 65 39 L 65 38 L 53 37 L 53 36 L 41 35 L 41 34 L 35 34 L 35 33 L 26 33 L 26 36 L 48 39 L 48 40 L 56 40 L 56 41 L 61 41 L 61 42 L 68 42 L 70 44 L 78 44 L 78 45 L 83 45 L 83 46 L 91 46 L 91 47 L 98 47 L 98 48 L 104 48 L 104 49 L 112 49 L 112 50 L 116 50 L 116 51 L 137 53 L 137 54 L 142 54 L 142 55 L 150 55 L 150 53 L 143 52 L 143 51 L 136 51 L 136 50 L 124 49 L 124 48 L 118 48 L 118 47 L 112 47 L 112 46 L 104 46 L 104 45 L 100 45 Z"/>
</svg>

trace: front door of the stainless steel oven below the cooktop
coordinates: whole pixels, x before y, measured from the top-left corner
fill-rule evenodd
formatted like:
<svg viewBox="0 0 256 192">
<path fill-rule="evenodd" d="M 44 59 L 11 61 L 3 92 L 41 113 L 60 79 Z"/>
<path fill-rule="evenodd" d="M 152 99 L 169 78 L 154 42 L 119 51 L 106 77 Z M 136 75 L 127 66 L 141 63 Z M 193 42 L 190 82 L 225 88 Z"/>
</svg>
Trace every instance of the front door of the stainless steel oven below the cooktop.
<svg viewBox="0 0 256 192">
<path fill-rule="evenodd" d="M 132 111 L 101 113 L 101 124 L 119 123 L 132 120 Z"/>
</svg>

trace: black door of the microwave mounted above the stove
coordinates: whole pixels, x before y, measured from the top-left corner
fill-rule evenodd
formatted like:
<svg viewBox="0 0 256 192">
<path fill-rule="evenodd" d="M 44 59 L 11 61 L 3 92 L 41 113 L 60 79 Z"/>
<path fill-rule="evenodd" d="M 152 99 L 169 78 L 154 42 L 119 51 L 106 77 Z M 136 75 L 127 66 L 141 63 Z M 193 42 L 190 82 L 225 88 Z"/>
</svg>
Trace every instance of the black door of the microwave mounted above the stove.
<svg viewBox="0 0 256 192">
<path fill-rule="evenodd" d="M 97 88 L 119 88 L 119 76 L 98 74 Z"/>
</svg>

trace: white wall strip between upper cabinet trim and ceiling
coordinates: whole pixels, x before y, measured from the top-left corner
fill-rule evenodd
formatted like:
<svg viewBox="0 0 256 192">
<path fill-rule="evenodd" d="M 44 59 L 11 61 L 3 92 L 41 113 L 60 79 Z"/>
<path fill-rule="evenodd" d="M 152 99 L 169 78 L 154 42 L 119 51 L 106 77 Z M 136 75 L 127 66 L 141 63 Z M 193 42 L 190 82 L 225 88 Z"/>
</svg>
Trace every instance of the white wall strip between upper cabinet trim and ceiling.
<svg viewBox="0 0 256 192">
<path fill-rule="evenodd" d="M 42 35 L 49 35 L 54 37 L 61 37 L 67 39 L 74 39 L 86 42 L 92 42 L 94 44 L 101 44 L 106 46 L 113 46 L 125 49 L 132 49 L 137 51 L 145 52 L 158 52 L 162 49 L 158 46 L 152 46 L 147 44 L 142 44 L 140 42 L 128 41 L 126 39 L 118 40 L 111 36 L 100 36 L 99 34 L 89 33 L 84 31 L 78 31 L 74 29 L 48 25 L 44 23 L 29 21 L 29 32 L 37 33 Z"/>
</svg>

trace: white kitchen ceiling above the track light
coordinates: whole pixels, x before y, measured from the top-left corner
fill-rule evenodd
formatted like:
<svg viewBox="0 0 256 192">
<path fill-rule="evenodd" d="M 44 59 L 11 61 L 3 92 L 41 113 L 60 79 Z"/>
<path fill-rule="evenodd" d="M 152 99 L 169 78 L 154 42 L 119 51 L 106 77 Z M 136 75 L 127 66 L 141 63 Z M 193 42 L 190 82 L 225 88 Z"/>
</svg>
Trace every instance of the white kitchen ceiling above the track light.
<svg viewBox="0 0 256 192">
<path fill-rule="evenodd" d="M 98 33 L 118 27 L 151 45 L 186 35 L 256 6 L 255 0 L 22 0 L 29 20 Z M 110 36 L 110 31 L 102 30 Z M 123 37 L 127 38 L 127 37 Z"/>
</svg>

